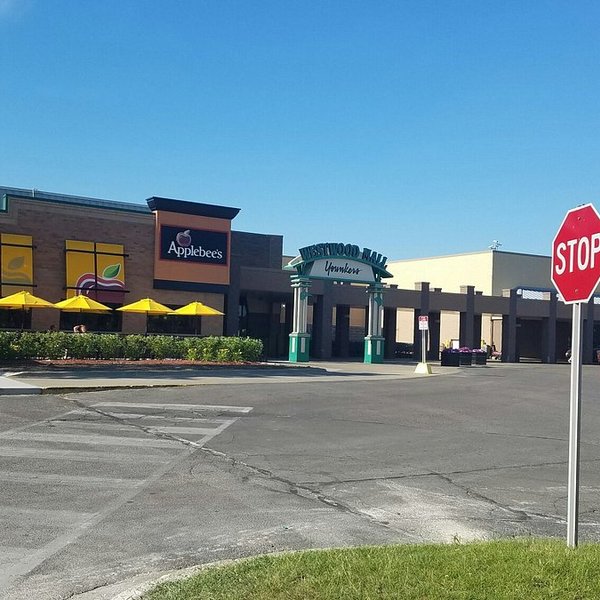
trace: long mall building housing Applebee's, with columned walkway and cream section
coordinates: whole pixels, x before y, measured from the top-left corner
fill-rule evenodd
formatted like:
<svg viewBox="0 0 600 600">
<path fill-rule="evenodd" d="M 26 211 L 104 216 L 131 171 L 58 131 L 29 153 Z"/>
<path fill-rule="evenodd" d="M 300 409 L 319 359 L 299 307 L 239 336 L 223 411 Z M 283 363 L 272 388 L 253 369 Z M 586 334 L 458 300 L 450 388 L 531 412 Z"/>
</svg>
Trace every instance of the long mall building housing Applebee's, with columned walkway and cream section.
<svg viewBox="0 0 600 600">
<path fill-rule="evenodd" d="M 22 289 L 51 302 L 87 294 L 112 308 L 150 297 L 176 309 L 194 300 L 224 316 L 202 317 L 200 335 L 257 337 L 268 357 L 288 355 L 294 290 L 283 237 L 236 231 L 239 209 L 151 197 L 144 204 L 0 187 L 1 295 Z M 314 244 L 319 240 L 307 240 Z M 344 246 L 331 240 L 316 246 Z M 386 266 L 385 253 L 345 244 Z M 310 246 L 310 247 L 316 247 Z M 381 249 L 379 249 L 381 250 Z M 333 251 L 333 250 L 332 250 Z M 300 258 L 300 257 L 298 257 Z M 297 260 L 297 259 L 296 259 Z M 293 264 L 293 263 L 292 263 Z M 343 263 L 342 263 L 343 265 Z M 332 268 L 307 283 L 310 356 L 361 356 L 369 323 L 366 285 Z M 337 274 L 336 274 L 337 269 Z M 570 342 L 571 308 L 550 282 L 550 258 L 498 250 L 419 260 L 387 260 L 381 335 L 388 359 L 420 356 L 419 317 L 429 318 L 427 353 L 443 345 L 502 351 L 502 359 L 557 362 Z M 391 277 L 390 277 L 391 275 Z M 600 346 L 593 298 L 584 307 L 584 357 Z M 189 317 L 0 310 L 0 328 L 192 335 Z M 378 317 L 379 318 L 379 317 Z"/>
</svg>

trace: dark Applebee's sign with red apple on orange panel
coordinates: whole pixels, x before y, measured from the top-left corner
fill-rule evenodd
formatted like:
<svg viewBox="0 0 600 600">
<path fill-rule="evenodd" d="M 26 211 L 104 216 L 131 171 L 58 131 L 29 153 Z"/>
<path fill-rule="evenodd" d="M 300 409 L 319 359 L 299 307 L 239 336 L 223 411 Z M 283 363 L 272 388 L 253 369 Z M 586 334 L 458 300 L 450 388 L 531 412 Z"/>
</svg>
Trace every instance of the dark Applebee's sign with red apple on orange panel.
<svg viewBox="0 0 600 600">
<path fill-rule="evenodd" d="M 160 257 L 206 264 L 227 264 L 227 234 L 203 229 L 182 229 L 162 225 Z"/>
</svg>

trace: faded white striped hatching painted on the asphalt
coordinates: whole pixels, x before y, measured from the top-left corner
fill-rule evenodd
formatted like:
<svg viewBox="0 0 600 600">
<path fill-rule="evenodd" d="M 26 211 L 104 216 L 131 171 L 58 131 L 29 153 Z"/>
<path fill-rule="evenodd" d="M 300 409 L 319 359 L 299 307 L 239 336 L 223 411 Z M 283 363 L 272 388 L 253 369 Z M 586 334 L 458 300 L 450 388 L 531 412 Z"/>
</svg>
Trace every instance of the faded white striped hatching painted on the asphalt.
<svg viewBox="0 0 600 600">
<path fill-rule="evenodd" d="M 95 408 L 130 409 L 128 413 L 111 413 L 108 411 L 92 412 Z M 139 410 L 151 410 L 162 414 L 145 414 L 135 412 Z M 115 488 L 120 493 L 112 500 L 106 502 L 98 512 L 75 512 L 68 510 L 33 509 L 14 506 L 2 506 L 0 504 L 0 521 L 14 523 L 51 523 L 60 527 L 62 533 L 47 543 L 41 542 L 37 548 L 5 548 L 0 552 L 0 591 L 7 589 L 16 579 L 26 575 L 31 570 L 60 552 L 66 546 L 73 544 L 78 538 L 85 535 L 91 528 L 98 525 L 108 515 L 121 508 L 126 502 L 133 499 L 142 490 L 158 481 L 165 473 L 171 470 L 177 463 L 186 460 L 196 448 L 202 447 L 208 440 L 212 439 L 227 427 L 235 423 L 239 417 L 229 419 L 204 418 L 204 417 L 177 417 L 168 413 L 173 411 L 202 411 L 202 412 L 226 412 L 247 414 L 252 410 L 250 406 L 219 406 L 219 405 L 190 405 L 190 404 L 149 404 L 149 403 L 121 403 L 100 402 L 86 409 L 75 409 L 54 419 L 44 419 L 26 426 L 5 431 L 0 434 L 0 457 L 18 457 L 31 461 L 35 460 L 57 460 L 70 462 L 108 462 L 118 465 L 124 462 L 133 462 L 145 466 L 155 465 L 154 472 L 145 479 L 126 479 L 118 477 L 95 477 L 79 476 L 76 474 L 63 475 L 61 473 L 38 473 L 28 471 L 0 471 L 0 481 L 9 483 L 26 483 L 32 485 L 46 486 L 55 485 L 77 485 L 89 486 L 89 498 L 94 500 L 94 488 Z M 121 423 L 106 422 L 99 419 L 77 419 L 71 420 L 70 416 L 82 414 L 96 416 L 106 414 L 107 417 L 124 419 Z M 133 422 L 127 423 L 127 419 Z M 140 421 L 144 422 L 140 422 Z M 159 423 L 152 423 L 158 420 Z M 165 424 L 161 425 L 161 421 Z M 150 423 L 148 422 L 150 421 Z M 182 423 L 182 425 L 176 425 Z M 193 424 L 203 425 L 194 427 Z M 215 427 L 207 427 L 215 425 Z M 143 427 L 143 430 L 141 427 Z M 36 431 L 32 431 L 32 429 Z M 70 433 L 64 433 L 64 432 Z M 77 432 L 75 432 L 77 431 Z M 146 433 L 143 437 L 142 431 Z M 123 435 L 106 435 L 108 432 L 135 433 L 137 437 Z M 172 439 L 156 439 L 150 437 L 152 434 L 169 434 Z M 179 435 L 202 436 L 199 440 L 187 440 Z M 19 447 L 12 444 L 26 444 L 31 446 Z M 177 442 L 186 444 L 181 451 Z M 82 446 L 102 446 L 105 451 L 90 450 L 62 450 L 49 449 L 53 443 L 73 443 Z M 8 445 L 10 444 L 10 446 Z M 111 447 L 124 447 L 120 452 Z M 125 450 L 126 448 L 126 450 Z M 177 450 L 175 454 L 172 452 Z M 76 467 L 73 469 L 76 472 Z M 113 471 L 114 472 L 114 471 Z M 10 486 L 6 486 L 10 487 Z"/>
</svg>

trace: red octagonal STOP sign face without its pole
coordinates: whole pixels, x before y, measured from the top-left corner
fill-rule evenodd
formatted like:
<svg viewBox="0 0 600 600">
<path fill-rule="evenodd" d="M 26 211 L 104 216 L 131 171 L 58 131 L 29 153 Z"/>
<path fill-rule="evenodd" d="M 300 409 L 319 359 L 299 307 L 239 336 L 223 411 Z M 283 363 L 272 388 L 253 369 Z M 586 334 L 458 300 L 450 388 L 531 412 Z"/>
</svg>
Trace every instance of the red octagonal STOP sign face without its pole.
<svg viewBox="0 0 600 600">
<path fill-rule="evenodd" d="M 552 283 L 565 304 L 587 302 L 600 280 L 600 215 L 591 204 L 573 208 L 552 242 Z"/>
</svg>

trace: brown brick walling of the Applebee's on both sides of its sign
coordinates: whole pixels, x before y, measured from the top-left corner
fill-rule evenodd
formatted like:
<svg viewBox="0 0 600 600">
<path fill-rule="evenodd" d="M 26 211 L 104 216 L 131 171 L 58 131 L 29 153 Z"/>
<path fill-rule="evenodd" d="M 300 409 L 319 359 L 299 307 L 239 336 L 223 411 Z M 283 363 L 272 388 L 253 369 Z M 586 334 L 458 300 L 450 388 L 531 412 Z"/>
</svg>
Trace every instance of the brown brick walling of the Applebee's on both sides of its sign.
<svg viewBox="0 0 600 600">
<path fill-rule="evenodd" d="M 154 215 L 116 211 L 91 206 L 61 204 L 41 199 L 12 198 L 8 212 L 0 213 L 0 232 L 31 235 L 33 238 L 34 294 L 51 302 L 66 297 L 65 240 L 122 244 L 125 254 L 125 303 L 151 297 L 168 306 L 199 300 L 224 311 L 224 295 L 177 290 L 155 290 Z M 231 264 L 280 268 L 283 238 L 232 232 Z M 59 311 L 35 309 L 32 329 L 58 327 Z M 123 332 L 142 332 L 145 315 L 123 314 Z M 222 317 L 205 317 L 202 333 L 220 335 Z"/>
</svg>

